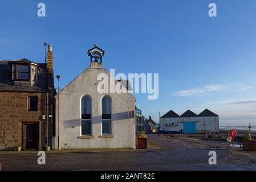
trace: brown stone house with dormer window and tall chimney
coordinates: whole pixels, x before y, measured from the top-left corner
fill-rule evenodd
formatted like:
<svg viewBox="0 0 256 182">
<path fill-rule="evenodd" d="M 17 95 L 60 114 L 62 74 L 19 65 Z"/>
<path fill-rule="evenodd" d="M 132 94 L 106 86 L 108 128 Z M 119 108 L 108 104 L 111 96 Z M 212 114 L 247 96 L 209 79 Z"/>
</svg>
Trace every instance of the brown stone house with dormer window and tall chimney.
<svg viewBox="0 0 256 182">
<path fill-rule="evenodd" d="M 51 46 L 47 63 L 0 60 L 0 150 L 50 146 L 56 94 L 53 61 Z"/>
</svg>

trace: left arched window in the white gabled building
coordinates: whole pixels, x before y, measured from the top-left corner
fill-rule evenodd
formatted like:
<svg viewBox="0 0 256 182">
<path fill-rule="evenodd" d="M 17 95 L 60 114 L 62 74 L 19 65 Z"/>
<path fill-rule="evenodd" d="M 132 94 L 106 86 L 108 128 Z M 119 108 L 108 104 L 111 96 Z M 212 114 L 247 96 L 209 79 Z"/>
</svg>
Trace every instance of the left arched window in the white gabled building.
<svg viewBox="0 0 256 182">
<path fill-rule="evenodd" d="M 91 98 L 84 96 L 81 101 L 82 135 L 92 134 Z"/>
</svg>

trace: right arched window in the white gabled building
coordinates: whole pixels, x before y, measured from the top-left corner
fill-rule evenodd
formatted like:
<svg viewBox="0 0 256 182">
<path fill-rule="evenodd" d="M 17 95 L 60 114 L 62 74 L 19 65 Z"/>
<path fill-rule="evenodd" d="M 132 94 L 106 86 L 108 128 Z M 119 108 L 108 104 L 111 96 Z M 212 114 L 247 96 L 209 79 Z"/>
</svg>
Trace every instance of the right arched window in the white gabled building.
<svg viewBox="0 0 256 182">
<path fill-rule="evenodd" d="M 101 100 L 101 125 L 103 135 L 111 134 L 111 99 L 107 96 Z"/>
</svg>

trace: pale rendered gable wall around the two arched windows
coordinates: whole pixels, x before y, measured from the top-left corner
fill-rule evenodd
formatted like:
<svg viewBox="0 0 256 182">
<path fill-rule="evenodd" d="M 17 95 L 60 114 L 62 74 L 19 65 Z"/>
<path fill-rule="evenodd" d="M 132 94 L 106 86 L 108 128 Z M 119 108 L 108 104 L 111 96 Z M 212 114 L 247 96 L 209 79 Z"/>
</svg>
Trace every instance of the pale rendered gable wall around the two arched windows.
<svg viewBox="0 0 256 182">
<path fill-rule="evenodd" d="M 109 93 L 112 99 L 112 135 L 101 136 L 101 98 L 97 92 L 97 75 L 109 72 L 105 69 L 87 68 L 60 92 L 60 146 L 61 148 L 135 148 L 135 118 L 128 118 L 135 110 L 132 94 Z M 92 98 L 93 139 L 79 139 L 81 136 L 80 100 L 84 95 Z M 58 95 L 56 98 L 56 138 L 58 136 Z M 58 142 L 55 148 L 58 148 Z"/>
</svg>

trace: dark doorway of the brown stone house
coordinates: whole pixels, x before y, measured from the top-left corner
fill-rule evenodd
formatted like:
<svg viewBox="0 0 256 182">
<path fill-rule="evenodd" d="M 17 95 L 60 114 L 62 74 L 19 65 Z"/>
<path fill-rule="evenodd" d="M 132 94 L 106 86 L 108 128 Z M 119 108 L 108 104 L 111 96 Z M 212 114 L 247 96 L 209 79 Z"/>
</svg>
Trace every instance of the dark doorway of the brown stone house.
<svg viewBox="0 0 256 182">
<path fill-rule="evenodd" d="M 22 123 L 23 150 L 38 150 L 38 123 Z"/>
</svg>

